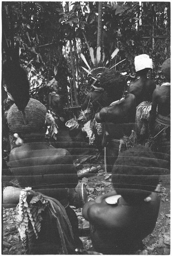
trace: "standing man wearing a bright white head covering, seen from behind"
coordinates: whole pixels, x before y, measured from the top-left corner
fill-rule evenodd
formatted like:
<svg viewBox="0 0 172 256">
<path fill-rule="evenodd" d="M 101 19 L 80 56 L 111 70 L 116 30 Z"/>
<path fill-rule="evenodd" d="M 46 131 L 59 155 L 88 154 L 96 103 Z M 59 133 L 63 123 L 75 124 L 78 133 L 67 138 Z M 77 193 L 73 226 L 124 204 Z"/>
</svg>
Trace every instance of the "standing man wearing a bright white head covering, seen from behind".
<svg viewBox="0 0 172 256">
<path fill-rule="evenodd" d="M 148 118 L 152 103 L 152 94 L 156 88 L 153 80 L 147 77 L 149 70 L 153 69 L 152 59 L 146 54 L 135 57 L 136 80 L 131 82 L 128 93 L 136 96 L 136 133 L 139 143 L 148 139 Z"/>
</svg>

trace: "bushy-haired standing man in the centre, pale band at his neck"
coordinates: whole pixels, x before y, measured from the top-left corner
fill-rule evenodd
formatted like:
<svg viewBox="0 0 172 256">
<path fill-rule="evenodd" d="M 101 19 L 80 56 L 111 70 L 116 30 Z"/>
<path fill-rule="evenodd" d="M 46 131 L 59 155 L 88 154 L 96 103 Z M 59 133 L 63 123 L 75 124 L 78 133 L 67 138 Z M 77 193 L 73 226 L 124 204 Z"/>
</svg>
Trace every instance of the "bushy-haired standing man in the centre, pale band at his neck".
<svg viewBox="0 0 172 256">
<path fill-rule="evenodd" d="M 97 122 L 104 123 L 102 145 L 105 147 L 105 167 L 107 172 L 122 150 L 133 145 L 131 135 L 135 125 L 136 97 L 133 94 L 124 94 L 126 79 L 118 71 L 102 73 L 100 84 L 103 84 L 111 104 L 105 106 L 96 114 Z M 117 90 L 119 89 L 119 90 Z M 114 101 L 112 102 L 112 100 Z M 107 166 L 106 166 L 107 165 Z"/>
</svg>

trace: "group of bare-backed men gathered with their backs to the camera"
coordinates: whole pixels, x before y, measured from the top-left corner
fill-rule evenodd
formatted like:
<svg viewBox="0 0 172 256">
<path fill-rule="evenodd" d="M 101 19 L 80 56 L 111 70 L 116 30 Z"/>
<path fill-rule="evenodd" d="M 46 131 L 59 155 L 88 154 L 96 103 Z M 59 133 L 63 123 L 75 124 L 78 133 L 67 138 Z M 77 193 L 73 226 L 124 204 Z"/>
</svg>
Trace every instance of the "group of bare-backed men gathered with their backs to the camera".
<svg viewBox="0 0 172 256">
<path fill-rule="evenodd" d="M 152 68 L 148 55 L 136 56 L 136 80 L 128 88 L 125 76 L 113 69 L 99 69 L 96 78 L 89 78 L 92 90 L 81 109 L 92 109 L 91 129 L 99 150 L 104 150 L 105 170 L 112 173 L 113 185 L 110 193 L 85 203 L 82 210 L 83 217 L 90 222 L 92 249 L 99 253 L 131 254 L 143 249 L 142 240 L 153 231 L 158 218 L 160 199 L 154 190 L 159 175 L 169 174 L 170 59 L 162 64 L 166 81 L 159 88 L 147 78 Z M 18 79 L 27 83 L 23 73 Z M 73 232 L 71 244 L 66 241 L 67 252 L 75 254 L 75 249 L 82 250 L 83 245 L 77 216 L 69 203 L 69 189 L 78 184 L 73 156 L 67 149 L 45 140 L 44 104 L 30 98 L 23 113 L 11 100 L 13 104 L 7 113 L 10 136 L 17 134 L 22 140 L 11 146 L 8 164 L 12 175 L 21 188 L 31 187 L 60 203 L 58 211 L 65 210 Z M 58 117 L 60 129 L 65 129 L 65 114 L 56 85 L 49 95 L 49 109 Z M 145 111 L 144 134 L 135 131 L 140 110 Z M 145 139 L 153 144 L 158 141 L 161 146 L 154 147 L 153 152 L 145 147 Z M 30 254 L 59 254 L 56 221 L 45 209 L 39 238 L 30 245 Z"/>
</svg>

